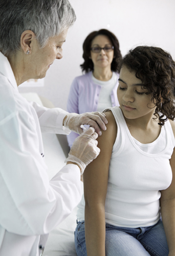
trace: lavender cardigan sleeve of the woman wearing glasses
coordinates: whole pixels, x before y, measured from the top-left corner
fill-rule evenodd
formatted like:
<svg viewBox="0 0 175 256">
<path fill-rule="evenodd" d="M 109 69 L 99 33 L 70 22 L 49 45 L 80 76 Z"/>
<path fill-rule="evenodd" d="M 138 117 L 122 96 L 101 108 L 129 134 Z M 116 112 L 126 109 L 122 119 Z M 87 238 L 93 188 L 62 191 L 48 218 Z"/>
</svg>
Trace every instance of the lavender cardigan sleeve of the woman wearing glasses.
<svg viewBox="0 0 175 256">
<path fill-rule="evenodd" d="M 67 102 L 67 111 L 69 113 L 79 113 L 79 108 L 78 108 L 78 80 L 77 78 L 74 79 L 74 81 L 71 84 L 71 88 L 69 91 L 69 96 L 68 96 L 68 102 Z M 71 148 L 73 142 L 75 141 L 75 139 L 78 137 L 79 135 L 76 134 L 75 132 L 71 132 L 69 135 L 67 135 L 67 139 L 68 139 L 68 144 L 69 147 Z"/>
</svg>

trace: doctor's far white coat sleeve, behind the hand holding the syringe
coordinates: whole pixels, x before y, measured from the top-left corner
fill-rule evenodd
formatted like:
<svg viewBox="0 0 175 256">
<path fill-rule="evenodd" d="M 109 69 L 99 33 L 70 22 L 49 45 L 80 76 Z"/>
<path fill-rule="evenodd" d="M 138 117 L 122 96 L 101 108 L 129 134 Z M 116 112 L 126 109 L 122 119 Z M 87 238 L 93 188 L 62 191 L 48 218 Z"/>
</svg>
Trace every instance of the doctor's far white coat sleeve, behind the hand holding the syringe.
<svg viewBox="0 0 175 256">
<path fill-rule="evenodd" d="M 61 108 L 46 108 L 37 103 L 30 102 L 37 112 L 40 122 L 41 132 L 50 132 L 52 134 L 69 134 L 71 131 L 62 126 L 67 111 Z"/>
</svg>

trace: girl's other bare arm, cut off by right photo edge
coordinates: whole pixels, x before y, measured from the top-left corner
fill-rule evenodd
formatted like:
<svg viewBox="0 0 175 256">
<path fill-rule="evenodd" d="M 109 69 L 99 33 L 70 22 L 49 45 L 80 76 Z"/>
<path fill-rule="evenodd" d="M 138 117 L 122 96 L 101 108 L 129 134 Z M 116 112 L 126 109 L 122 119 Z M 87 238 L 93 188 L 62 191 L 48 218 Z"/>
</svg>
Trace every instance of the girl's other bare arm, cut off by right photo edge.
<svg viewBox="0 0 175 256">
<path fill-rule="evenodd" d="M 170 120 L 170 123 L 175 137 L 175 122 Z M 161 191 L 160 209 L 167 244 L 169 246 L 169 256 L 175 256 L 175 148 L 171 155 L 170 166 L 173 179 L 171 185 Z"/>
</svg>

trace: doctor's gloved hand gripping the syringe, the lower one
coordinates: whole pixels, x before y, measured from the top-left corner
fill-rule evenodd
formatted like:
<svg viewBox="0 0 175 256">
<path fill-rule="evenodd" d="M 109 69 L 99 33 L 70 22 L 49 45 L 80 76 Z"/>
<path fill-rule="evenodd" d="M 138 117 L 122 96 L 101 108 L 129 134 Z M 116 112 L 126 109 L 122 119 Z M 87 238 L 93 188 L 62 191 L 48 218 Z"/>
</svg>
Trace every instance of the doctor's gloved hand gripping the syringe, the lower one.
<svg viewBox="0 0 175 256">
<path fill-rule="evenodd" d="M 75 139 L 68 158 L 65 159 L 65 163 L 76 163 L 81 169 L 82 175 L 86 166 L 89 165 L 89 163 L 92 162 L 100 153 L 100 149 L 97 148 L 97 137 L 98 135 L 92 127 L 79 135 L 78 138 Z"/>
</svg>

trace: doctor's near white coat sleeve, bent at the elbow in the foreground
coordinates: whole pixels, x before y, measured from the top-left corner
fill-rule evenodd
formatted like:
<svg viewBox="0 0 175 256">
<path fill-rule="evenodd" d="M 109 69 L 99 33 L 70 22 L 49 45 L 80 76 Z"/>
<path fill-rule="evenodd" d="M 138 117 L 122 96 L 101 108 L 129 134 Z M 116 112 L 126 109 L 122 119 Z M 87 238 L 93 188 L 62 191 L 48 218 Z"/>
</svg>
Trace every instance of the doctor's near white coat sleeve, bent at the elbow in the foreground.
<svg viewBox="0 0 175 256">
<path fill-rule="evenodd" d="M 32 115 L 0 122 L 0 224 L 20 235 L 49 233 L 81 200 L 80 170 L 66 165 L 49 181 Z"/>
</svg>

